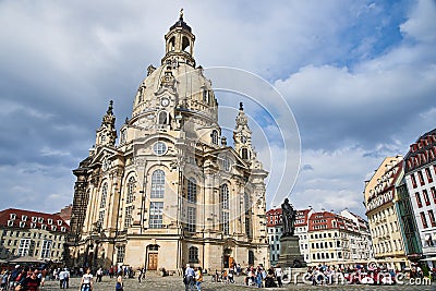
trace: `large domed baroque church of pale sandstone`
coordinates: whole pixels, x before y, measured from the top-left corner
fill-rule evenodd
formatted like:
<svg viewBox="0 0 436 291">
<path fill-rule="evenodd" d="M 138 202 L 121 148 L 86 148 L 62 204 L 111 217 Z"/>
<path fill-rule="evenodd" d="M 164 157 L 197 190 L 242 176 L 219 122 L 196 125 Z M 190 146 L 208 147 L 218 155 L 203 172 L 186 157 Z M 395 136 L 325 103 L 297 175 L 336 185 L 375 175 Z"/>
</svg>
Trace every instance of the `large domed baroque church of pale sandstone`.
<svg viewBox="0 0 436 291">
<path fill-rule="evenodd" d="M 70 264 L 168 271 L 186 263 L 209 270 L 265 264 L 268 173 L 243 105 L 231 147 L 183 14 L 165 41 L 161 64 L 148 66 L 131 118 L 118 134 L 110 101 L 95 146 L 73 170 Z"/>
</svg>

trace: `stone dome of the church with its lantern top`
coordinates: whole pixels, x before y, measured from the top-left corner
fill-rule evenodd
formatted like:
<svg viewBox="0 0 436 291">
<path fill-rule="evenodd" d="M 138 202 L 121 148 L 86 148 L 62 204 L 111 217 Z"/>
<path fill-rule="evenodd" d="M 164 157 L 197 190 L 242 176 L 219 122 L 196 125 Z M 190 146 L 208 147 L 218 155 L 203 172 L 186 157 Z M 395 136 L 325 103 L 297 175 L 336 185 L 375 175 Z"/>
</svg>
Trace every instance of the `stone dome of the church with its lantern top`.
<svg viewBox="0 0 436 291">
<path fill-rule="evenodd" d="M 195 36 L 183 21 L 182 12 L 179 21 L 165 35 L 165 40 L 166 54 L 161 65 L 147 68 L 147 76 L 134 98 L 130 124 L 140 125 L 155 120 L 173 129 L 171 121 L 175 117 L 197 119 L 195 123 L 204 126 L 217 124 L 218 102 L 210 81 L 203 74 L 203 68 L 195 66 Z M 159 123 L 162 114 L 166 122 Z"/>
</svg>

